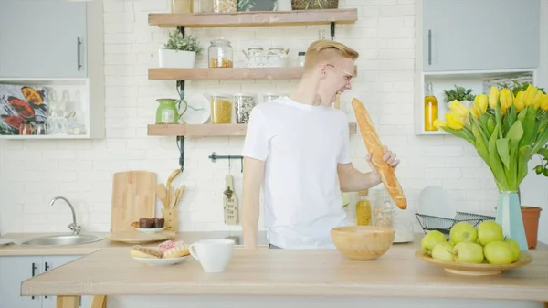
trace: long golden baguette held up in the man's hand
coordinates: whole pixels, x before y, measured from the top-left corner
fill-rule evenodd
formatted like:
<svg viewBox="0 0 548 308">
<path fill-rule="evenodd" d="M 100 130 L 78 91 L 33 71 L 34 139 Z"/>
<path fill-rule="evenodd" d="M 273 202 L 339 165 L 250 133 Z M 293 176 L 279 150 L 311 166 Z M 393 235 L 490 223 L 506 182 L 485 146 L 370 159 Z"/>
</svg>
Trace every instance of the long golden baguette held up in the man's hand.
<svg viewBox="0 0 548 308">
<path fill-rule="evenodd" d="M 373 163 L 378 174 L 381 176 L 381 180 L 383 181 L 388 194 L 392 196 L 395 206 L 400 209 L 406 209 L 406 196 L 404 195 L 404 191 L 395 177 L 394 168 L 383 159 L 385 150 L 378 134 L 374 129 L 373 122 L 369 117 L 369 112 L 365 109 L 364 104 L 356 98 L 353 98 L 352 100 L 352 107 L 354 113 L 356 114 L 356 122 L 358 123 L 360 132 L 362 133 L 365 147 L 367 148 L 367 151 L 372 154 L 371 162 Z"/>
</svg>

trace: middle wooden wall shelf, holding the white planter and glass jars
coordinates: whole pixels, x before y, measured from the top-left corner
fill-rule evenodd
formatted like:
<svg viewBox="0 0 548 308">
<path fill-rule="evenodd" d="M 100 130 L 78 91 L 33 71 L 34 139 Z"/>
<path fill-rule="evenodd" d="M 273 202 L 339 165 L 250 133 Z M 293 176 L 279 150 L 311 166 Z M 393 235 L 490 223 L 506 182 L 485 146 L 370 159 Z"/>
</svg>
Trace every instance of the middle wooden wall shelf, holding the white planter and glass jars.
<svg viewBox="0 0 548 308">
<path fill-rule="evenodd" d="M 285 80 L 300 79 L 302 67 L 149 69 L 149 80 Z M 354 76 L 358 68 L 354 67 Z"/>
</svg>

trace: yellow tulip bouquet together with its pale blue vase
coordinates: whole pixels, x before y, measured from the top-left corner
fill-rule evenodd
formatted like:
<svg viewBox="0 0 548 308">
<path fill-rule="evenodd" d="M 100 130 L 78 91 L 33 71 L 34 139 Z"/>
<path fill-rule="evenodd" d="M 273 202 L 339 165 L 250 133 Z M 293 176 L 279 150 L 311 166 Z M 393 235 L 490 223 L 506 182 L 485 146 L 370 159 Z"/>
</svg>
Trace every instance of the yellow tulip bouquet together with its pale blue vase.
<svg viewBox="0 0 548 308">
<path fill-rule="evenodd" d="M 532 156 L 548 157 L 543 148 L 548 143 L 548 95 L 531 84 L 513 91 L 493 86 L 489 97 L 477 95 L 470 108 L 451 101 L 445 117 L 447 122 L 434 125 L 474 145 L 499 189 L 496 221 L 506 237 L 528 250 L 519 190 Z"/>
</svg>

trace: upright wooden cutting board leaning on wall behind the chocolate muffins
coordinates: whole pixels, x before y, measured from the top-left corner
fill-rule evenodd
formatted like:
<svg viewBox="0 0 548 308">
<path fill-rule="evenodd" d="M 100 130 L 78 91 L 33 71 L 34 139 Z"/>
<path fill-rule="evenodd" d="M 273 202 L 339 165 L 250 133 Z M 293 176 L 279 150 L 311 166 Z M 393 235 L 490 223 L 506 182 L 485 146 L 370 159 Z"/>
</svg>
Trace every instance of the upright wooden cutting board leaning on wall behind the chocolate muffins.
<svg viewBox="0 0 548 308">
<path fill-rule="evenodd" d="M 112 178 L 111 233 L 132 229 L 139 218 L 156 211 L 157 175 L 148 171 L 118 172 Z"/>
</svg>

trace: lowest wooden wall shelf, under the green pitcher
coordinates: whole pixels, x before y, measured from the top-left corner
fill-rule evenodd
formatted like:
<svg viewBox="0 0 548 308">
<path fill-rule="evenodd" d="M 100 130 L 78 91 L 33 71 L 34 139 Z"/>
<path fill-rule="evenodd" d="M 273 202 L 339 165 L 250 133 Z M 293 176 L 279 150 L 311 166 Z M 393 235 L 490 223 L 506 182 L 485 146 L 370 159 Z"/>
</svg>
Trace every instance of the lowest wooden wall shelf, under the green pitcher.
<svg viewBox="0 0 548 308">
<path fill-rule="evenodd" d="M 245 136 L 247 124 L 151 124 L 149 136 Z M 350 134 L 357 133 L 356 123 L 349 123 Z"/>
</svg>

